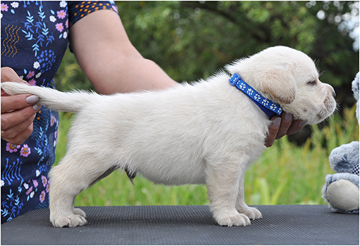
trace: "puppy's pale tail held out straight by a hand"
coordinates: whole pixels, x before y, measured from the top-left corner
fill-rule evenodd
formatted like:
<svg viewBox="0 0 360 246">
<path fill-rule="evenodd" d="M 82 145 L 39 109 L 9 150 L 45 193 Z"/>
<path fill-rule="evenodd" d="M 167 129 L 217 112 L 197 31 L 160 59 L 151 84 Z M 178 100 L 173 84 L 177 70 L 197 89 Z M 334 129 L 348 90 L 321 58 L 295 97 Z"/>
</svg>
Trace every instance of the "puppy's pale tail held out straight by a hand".
<svg viewBox="0 0 360 246">
<path fill-rule="evenodd" d="M 37 104 L 46 105 L 52 110 L 65 112 L 80 112 L 82 108 L 94 99 L 91 93 L 80 91 L 61 92 L 51 88 L 29 86 L 15 82 L 1 83 L 1 89 L 9 95 L 30 93 L 39 96 Z"/>
</svg>

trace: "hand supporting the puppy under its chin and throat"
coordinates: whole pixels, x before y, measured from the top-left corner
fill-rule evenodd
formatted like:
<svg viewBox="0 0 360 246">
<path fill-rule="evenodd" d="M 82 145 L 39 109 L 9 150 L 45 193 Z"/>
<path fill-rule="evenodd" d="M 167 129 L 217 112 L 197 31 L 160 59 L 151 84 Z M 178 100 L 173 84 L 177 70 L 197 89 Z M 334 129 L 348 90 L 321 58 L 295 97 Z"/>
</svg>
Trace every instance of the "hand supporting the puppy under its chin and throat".
<svg viewBox="0 0 360 246">
<path fill-rule="evenodd" d="M 268 136 L 265 139 L 265 146 L 271 147 L 275 139 L 282 138 L 285 135 L 291 135 L 304 128 L 306 122 L 299 119 L 293 120 L 292 114 L 283 112 L 280 117 L 271 117 L 271 124 L 268 128 Z"/>
</svg>

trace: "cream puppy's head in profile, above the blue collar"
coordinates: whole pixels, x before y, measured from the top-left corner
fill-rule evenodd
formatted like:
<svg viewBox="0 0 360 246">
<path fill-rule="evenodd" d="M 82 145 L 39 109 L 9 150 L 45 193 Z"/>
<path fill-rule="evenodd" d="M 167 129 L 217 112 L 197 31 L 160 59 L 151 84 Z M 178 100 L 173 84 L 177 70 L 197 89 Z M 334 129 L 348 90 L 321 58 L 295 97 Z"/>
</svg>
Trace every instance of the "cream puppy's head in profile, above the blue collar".
<svg viewBox="0 0 360 246">
<path fill-rule="evenodd" d="M 313 60 L 285 46 L 267 48 L 254 56 L 226 66 L 266 98 L 279 103 L 285 112 L 308 124 L 317 124 L 336 108 L 332 86 L 318 79 Z"/>
</svg>

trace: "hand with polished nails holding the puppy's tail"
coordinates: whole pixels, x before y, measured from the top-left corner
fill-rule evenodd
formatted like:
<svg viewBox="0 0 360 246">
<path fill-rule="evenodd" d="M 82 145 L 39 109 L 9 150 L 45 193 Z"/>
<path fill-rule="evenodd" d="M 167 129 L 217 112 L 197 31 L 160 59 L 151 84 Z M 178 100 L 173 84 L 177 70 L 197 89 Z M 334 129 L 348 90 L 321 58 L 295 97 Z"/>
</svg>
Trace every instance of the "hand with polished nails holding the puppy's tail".
<svg viewBox="0 0 360 246">
<path fill-rule="evenodd" d="M 25 83 L 10 67 L 1 67 L 2 82 Z M 32 122 L 41 105 L 39 97 L 30 94 L 10 96 L 1 89 L 1 138 L 20 145 L 32 134 Z"/>
</svg>

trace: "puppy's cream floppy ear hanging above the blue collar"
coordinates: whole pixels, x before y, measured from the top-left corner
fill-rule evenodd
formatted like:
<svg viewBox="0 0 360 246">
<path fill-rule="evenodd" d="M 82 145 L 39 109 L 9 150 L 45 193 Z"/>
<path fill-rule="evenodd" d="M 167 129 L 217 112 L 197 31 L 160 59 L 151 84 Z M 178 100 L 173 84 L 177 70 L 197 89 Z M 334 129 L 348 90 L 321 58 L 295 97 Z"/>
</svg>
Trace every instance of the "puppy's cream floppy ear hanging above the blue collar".
<svg viewBox="0 0 360 246">
<path fill-rule="evenodd" d="M 280 105 L 292 103 L 297 92 L 293 65 L 273 65 L 271 69 L 264 70 L 258 88 L 264 96 L 270 96 Z"/>
</svg>

